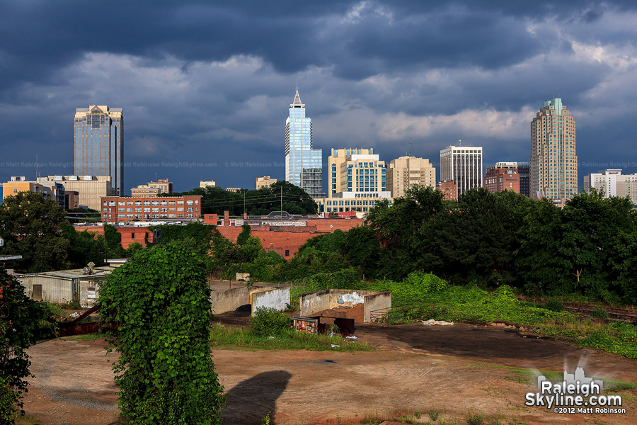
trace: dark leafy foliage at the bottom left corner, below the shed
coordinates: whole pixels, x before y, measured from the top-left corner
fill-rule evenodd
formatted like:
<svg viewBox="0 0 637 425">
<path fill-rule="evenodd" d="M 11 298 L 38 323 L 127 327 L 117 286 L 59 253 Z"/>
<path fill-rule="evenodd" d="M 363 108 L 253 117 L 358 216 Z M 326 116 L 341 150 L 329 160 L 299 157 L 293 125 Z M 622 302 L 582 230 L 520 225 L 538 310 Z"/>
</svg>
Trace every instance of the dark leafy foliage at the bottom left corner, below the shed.
<svg viewBox="0 0 637 425">
<path fill-rule="evenodd" d="M 44 302 L 31 300 L 18 279 L 0 267 L 0 422 L 13 424 L 27 392 L 27 348 L 43 336 L 40 325 L 50 321 Z"/>
</svg>

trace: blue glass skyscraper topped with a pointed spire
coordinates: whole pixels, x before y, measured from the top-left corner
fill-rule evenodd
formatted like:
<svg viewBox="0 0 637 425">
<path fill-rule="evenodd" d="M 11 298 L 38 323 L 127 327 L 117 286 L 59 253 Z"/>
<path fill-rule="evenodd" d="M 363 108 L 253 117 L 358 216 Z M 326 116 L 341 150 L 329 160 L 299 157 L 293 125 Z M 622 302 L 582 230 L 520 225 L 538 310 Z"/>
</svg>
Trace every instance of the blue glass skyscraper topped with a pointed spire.
<svg viewBox="0 0 637 425">
<path fill-rule="evenodd" d="M 312 198 L 323 196 L 323 151 L 312 148 L 312 120 L 305 116 L 298 87 L 285 120 L 285 180 Z"/>
</svg>

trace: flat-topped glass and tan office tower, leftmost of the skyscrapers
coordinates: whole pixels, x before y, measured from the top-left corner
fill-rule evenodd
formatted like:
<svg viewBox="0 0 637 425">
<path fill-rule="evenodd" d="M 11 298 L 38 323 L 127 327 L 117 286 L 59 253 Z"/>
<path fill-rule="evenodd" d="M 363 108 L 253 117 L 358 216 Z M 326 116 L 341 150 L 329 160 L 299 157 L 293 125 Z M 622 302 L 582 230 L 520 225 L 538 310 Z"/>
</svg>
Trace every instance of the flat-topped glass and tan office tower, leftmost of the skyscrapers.
<svg viewBox="0 0 637 425">
<path fill-rule="evenodd" d="M 122 108 L 91 105 L 75 111 L 75 175 L 110 176 L 111 196 L 124 184 L 124 116 Z"/>
</svg>

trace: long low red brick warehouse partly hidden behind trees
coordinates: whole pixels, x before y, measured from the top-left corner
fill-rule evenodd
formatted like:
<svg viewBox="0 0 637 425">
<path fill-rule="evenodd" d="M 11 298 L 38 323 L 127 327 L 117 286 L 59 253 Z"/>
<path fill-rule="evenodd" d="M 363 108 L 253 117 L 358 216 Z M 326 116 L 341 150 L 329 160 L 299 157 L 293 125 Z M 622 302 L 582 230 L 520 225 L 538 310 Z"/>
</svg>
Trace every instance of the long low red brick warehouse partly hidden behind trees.
<svg viewBox="0 0 637 425">
<path fill-rule="evenodd" d="M 227 239 L 236 242 L 236 238 L 241 233 L 241 225 L 226 225 L 234 220 L 220 220 L 222 225 L 217 225 L 217 230 Z M 205 215 L 207 224 L 218 222 L 217 215 Z M 243 222 L 242 220 L 237 220 Z M 285 259 L 290 259 L 299 250 L 307 239 L 319 234 L 332 233 L 336 229 L 348 231 L 352 227 L 359 227 L 363 220 L 358 218 L 316 218 L 307 220 L 296 220 L 297 225 L 277 225 L 276 222 L 267 222 L 267 224 L 251 225 L 251 234 L 257 237 L 261 242 L 261 246 L 265 251 L 275 251 Z M 127 249 L 133 242 L 139 242 L 142 246 L 146 246 L 144 235 L 148 234 L 149 242 L 152 242 L 152 232 L 146 227 L 133 226 L 116 226 L 118 232 L 122 235 L 122 246 Z M 97 225 L 75 225 L 78 232 L 84 230 L 96 234 L 104 234 L 102 226 Z"/>
</svg>

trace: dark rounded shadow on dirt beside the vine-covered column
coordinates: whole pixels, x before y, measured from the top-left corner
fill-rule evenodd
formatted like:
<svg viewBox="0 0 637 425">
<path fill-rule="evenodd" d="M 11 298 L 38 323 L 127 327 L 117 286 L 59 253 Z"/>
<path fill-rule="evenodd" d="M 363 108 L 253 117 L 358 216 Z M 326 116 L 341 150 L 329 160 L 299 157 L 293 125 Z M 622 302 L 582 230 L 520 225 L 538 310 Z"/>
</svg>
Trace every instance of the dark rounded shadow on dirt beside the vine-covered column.
<svg viewBox="0 0 637 425">
<path fill-rule="evenodd" d="M 222 409 L 224 425 L 260 424 L 268 412 L 272 418 L 289 378 L 292 375 L 286 370 L 272 370 L 239 382 L 226 393 L 226 407 Z M 270 419 L 270 424 L 275 421 Z"/>
</svg>

